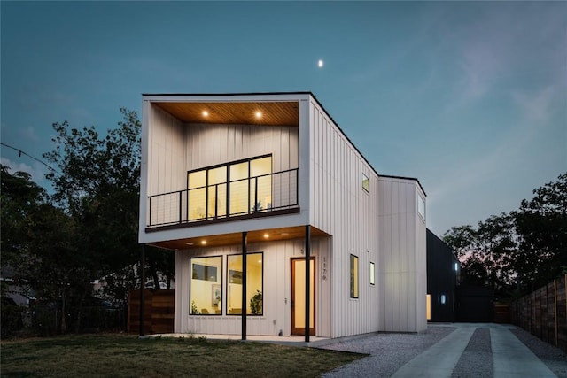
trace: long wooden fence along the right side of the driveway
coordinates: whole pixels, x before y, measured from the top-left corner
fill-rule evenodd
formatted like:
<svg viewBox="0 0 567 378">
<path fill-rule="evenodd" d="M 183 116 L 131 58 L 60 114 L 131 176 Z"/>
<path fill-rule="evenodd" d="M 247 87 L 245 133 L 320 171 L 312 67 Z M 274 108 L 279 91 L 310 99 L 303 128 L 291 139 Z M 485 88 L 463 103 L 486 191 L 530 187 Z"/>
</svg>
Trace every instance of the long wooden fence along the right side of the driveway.
<svg viewBox="0 0 567 378">
<path fill-rule="evenodd" d="M 515 324 L 541 340 L 567 351 L 567 274 L 510 305 Z"/>
</svg>

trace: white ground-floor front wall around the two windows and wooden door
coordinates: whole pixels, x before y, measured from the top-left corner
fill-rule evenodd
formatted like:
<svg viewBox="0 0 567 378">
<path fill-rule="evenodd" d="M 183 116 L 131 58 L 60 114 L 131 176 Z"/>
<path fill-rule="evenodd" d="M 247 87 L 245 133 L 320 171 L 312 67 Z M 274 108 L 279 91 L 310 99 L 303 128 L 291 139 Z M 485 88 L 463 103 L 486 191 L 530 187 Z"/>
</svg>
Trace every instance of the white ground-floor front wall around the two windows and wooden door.
<svg viewBox="0 0 567 378">
<path fill-rule="evenodd" d="M 315 327 L 317 336 L 330 336 L 329 282 L 322 280 L 322 261 L 329 259 L 325 244 L 328 238 L 314 238 L 312 256 L 315 257 Z M 263 252 L 264 288 L 263 315 L 247 317 L 248 335 L 277 336 L 291 332 L 291 258 L 305 258 L 302 251 L 305 240 L 249 243 L 247 251 Z M 222 304 L 226 304 L 226 256 L 242 253 L 242 247 L 203 248 L 175 252 L 175 333 L 210 333 L 239 335 L 242 318 L 239 315 L 190 315 L 190 258 L 222 256 Z M 226 313 L 224 305 L 223 313 Z"/>
</svg>

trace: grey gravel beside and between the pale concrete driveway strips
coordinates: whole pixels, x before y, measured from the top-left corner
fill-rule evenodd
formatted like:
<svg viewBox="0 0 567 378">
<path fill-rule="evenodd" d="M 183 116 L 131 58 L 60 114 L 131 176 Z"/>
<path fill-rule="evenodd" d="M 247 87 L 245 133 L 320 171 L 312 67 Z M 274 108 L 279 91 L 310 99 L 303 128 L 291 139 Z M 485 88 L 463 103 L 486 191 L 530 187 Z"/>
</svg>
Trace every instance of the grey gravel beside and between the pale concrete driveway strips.
<svg viewBox="0 0 567 378">
<path fill-rule="evenodd" d="M 454 327 L 428 326 L 419 334 L 379 333 L 341 343 L 322 346 L 333 351 L 352 351 L 369 354 L 329 373 L 326 378 L 337 377 L 389 377 L 401 366 L 428 349 L 434 343 L 454 331 Z M 560 378 L 567 378 L 567 357 L 563 351 L 542 342 L 521 328 L 510 329 L 551 371 Z M 493 359 L 490 330 L 478 328 L 454 368 L 453 378 L 477 378 L 493 376 Z"/>
</svg>

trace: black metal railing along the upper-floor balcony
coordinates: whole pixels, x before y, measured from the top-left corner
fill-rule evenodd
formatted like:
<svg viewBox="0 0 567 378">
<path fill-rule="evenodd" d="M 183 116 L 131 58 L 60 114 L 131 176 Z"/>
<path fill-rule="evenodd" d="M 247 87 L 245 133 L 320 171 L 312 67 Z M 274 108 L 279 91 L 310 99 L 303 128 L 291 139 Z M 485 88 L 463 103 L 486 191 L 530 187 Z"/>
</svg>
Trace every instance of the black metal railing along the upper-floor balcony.
<svg viewBox="0 0 567 378">
<path fill-rule="evenodd" d="M 299 206 L 298 168 L 148 197 L 149 228 Z"/>
</svg>

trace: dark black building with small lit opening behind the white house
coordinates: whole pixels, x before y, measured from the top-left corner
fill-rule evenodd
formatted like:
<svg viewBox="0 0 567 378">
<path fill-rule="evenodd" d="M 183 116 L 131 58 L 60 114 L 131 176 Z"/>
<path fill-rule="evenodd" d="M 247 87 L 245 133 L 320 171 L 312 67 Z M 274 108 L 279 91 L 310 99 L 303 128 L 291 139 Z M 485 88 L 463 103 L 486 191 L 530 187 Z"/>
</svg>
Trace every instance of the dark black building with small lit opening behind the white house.
<svg viewBox="0 0 567 378">
<path fill-rule="evenodd" d="M 461 264 L 454 251 L 427 229 L 427 320 L 456 321 Z"/>
</svg>

